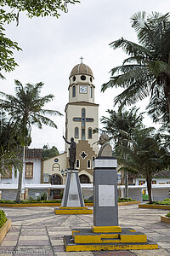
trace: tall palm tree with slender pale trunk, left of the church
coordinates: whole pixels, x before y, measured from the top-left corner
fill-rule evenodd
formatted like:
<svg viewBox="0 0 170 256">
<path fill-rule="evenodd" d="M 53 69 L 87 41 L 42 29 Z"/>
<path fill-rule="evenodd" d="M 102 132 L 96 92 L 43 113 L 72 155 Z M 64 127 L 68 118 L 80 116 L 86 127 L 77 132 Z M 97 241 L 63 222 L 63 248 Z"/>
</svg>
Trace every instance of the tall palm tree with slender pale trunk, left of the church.
<svg viewBox="0 0 170 256">
<path fill-rule="evenodd" d="M 0 107 L 8 112 L 8 116 L 19 127 L 19 141 L 23 148 L 23 166 L 25 164 L 25 148 L 31 143 L 31 125 L 37 125 L 42 129 L 43 125 L 49 125 L 57 128 L 54 121 L 45 115 L 56 115 L 59 111 L 43 109 L 44 105 L 54 99 L 52 94 L 48 96 L 40 96 L 43 83 L 26 84 L 24 87 L 20 81 L 15 80 L 15 96 L 0 92 L 5 98 L 0 100 Z M 20 201 L 22 187 L 22 171 L 19 172 L 18 192 L 16 201 Z"/>
</svg>

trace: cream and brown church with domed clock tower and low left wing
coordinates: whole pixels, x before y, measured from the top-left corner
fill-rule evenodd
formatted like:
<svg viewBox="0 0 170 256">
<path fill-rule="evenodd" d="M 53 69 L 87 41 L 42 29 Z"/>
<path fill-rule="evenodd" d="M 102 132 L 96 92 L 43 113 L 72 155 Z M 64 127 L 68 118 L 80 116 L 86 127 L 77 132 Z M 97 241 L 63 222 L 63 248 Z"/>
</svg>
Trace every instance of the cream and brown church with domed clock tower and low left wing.
<svg viewBox="0 0 170 256">
<path fill-rule="evenodd" d="M 81 63 L 72 68 L 69 80 L 69 102 L 65 106 L 65 138 L 70 142 L 73 137 L 77 143 L 75 168 L 79 171 L 80 182 L 92 183 L 92 162 L 99 151 L 96 143 L 99 136 L 98 133 L 93 133 L 99 127 L 99 104 L 94 103 L 94 74 L 90 67 L 82 63 L 81 58 Z M 69 147 L 65 143 L 63 154 L 44 161 L 44 183 L 65 184 L 65 173 L 69 168 Z M 57 195 L 58 192 L 54 191 L 54 194 Z"/>
</svg>

